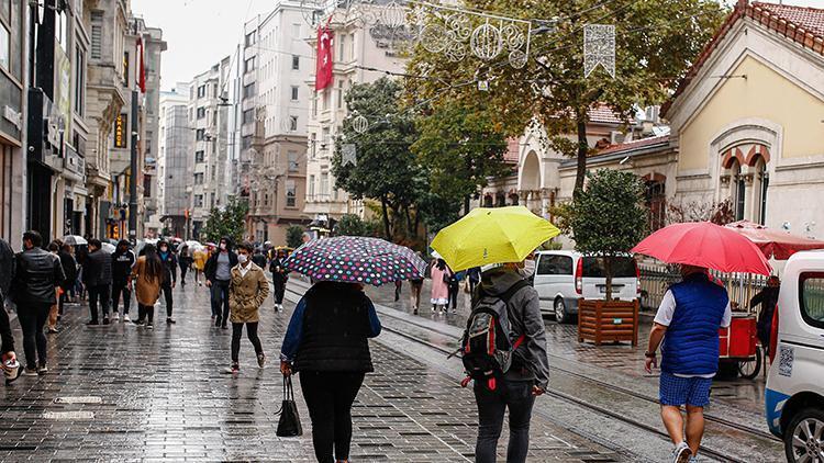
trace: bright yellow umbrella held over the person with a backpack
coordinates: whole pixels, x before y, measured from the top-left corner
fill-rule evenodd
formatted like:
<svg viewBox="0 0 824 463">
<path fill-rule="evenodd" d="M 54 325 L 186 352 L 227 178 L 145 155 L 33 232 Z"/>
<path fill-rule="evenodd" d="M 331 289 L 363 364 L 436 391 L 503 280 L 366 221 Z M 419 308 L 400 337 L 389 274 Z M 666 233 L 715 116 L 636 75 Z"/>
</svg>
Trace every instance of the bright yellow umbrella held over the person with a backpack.
<svg viewBox="0 0 824 463">
<path fill-rule="evenodd" d="M 479 207 L 442 229 L 432 241 L 455 270 L 521 262 L 560 230 L 524 206 Z"/>
</svg>

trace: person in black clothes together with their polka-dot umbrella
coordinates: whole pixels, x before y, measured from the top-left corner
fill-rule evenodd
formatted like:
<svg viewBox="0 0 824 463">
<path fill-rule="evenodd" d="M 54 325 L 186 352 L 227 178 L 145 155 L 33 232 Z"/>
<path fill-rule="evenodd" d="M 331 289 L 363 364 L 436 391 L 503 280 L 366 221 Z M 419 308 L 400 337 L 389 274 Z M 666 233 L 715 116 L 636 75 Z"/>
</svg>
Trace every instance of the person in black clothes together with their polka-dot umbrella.
<svg viewBox="0 0 824 463">
<path fill-rule="evenodd" d="M 425 263 L 411 249 L 382 239 L 344 236 L 303 245 L 285 267 L 318 283 L 289 321 L 280 371 L 300 373 L 318 461 L 348 461 L 352 404 L 366 373 L 375 370 L 368 338 L 381 330 L 363 285 L 420 276 Z"/>
</svg>

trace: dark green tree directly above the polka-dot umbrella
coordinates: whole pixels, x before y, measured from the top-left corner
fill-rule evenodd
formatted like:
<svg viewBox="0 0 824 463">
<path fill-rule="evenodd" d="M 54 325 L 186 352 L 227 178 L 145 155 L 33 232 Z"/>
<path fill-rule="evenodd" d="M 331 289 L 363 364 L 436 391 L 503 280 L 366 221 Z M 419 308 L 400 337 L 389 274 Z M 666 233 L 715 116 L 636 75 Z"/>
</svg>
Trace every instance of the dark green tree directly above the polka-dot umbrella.
<svg viewBox="0 0 824 463">
<path fill-rule="evenodd" d="M 355 199 L 374 199 L 380 204 L 383 235 L 393 238 L 396 216 L 403 217 L 414 230 L 413 206 L 423 170 L 410 145 L 417 137 L 412 116 L 399 112 L 400 83 L 381 78 L 372 83 L 356 84 L 346 93 L 349 115 L 344 120 L 335 143 L 332 173 L 338 188 Z M 366 117 L 366 132 L 358 133 L 353 121 Z M 343 146 L 354 145 L 356 162 L 346 162 Z"/>
</svg>

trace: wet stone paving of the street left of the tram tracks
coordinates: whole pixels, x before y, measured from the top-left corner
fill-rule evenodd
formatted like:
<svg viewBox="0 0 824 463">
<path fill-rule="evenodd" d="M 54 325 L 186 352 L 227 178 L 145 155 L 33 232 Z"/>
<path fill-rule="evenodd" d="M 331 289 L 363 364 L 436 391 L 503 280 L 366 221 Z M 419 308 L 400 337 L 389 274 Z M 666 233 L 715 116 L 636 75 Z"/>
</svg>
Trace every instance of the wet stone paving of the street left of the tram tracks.
<svg viewBox="0 0 824 463">
<path fill-rule="evenodd" d="M 269 364 L 257 368 L 244 338 L 241 374 L 232 377 L 223 373 L 231 336 L 212 326 L 207 289 L 178 286 L 175 305 L 177 325 L 164 323 L 158 304 L 154 330 L 123 323 L 86 327 L 86 306 L 68 306 L 62 331 L 48 335 L 49 372 L 0 388 L 0 460 L 314 461 L 298 384 L 304 436 L 275 436 L 282 384 L 277 357 L 293 306 L 275 313 L 271 298 L 266 302 L 259 334 Z M 371 343 L 376 372 L 353 409 L 352 460 L 471 461 L 471 392 L 379 339 Z M 531 438 L 531 462 L 624 461 L 541 417 Z"/>
</svg>

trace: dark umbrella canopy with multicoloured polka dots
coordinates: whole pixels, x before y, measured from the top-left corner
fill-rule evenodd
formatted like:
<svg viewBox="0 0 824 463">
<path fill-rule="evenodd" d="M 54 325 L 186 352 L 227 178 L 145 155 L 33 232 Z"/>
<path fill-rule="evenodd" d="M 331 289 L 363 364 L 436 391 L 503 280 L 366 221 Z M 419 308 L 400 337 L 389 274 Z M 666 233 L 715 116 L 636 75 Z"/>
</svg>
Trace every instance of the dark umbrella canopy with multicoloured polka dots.
<svg viewBox="0 0 824 463">
<path fill-rule="evenodd" d="M 411 249 L 379 238 L 338 236 L 307 242 L 289 256 L 283 267 L 319 281 L 379 286 L 420 279 L 426 263 Z"/>
</svg>

